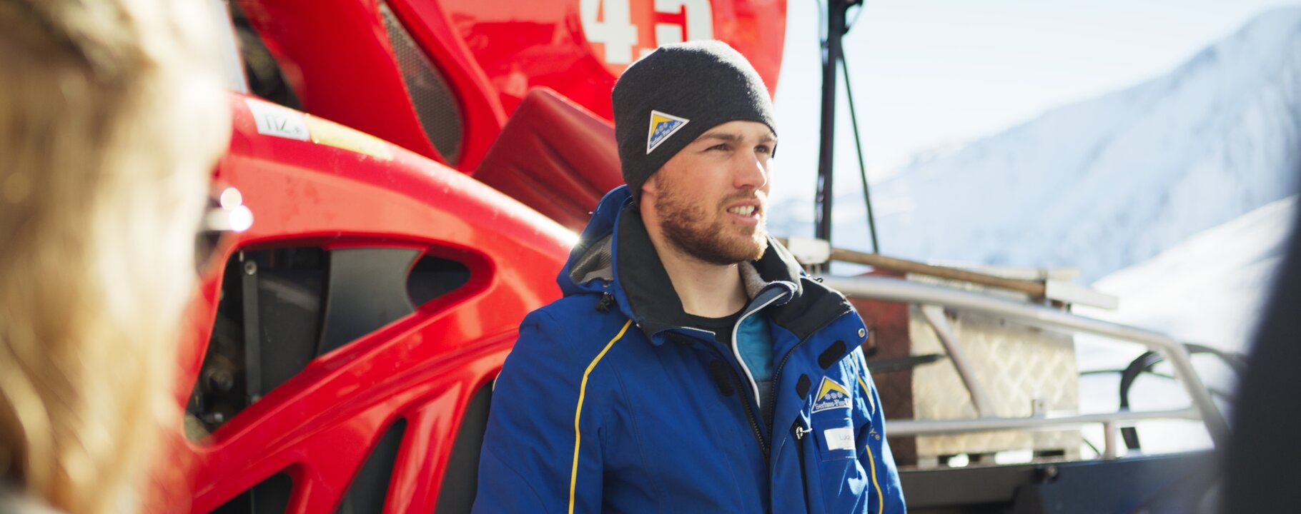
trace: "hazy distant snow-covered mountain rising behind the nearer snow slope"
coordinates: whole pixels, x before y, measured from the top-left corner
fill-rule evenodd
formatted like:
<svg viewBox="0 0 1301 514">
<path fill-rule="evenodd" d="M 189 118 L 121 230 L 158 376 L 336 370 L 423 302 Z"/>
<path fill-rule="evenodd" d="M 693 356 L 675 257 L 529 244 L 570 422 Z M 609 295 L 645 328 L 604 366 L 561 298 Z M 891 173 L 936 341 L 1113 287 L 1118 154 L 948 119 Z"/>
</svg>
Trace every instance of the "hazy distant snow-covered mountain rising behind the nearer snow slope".
<svg viewBox="0 0 1301 514">
<path fill-rule="evenodd" d="M 1153 80 L 1050 110 L 873 184 L 882 252 L 1079 267 L 1090 283 L 1292 195 L 1301 177 L 1301 9 L 1265 13 Z M 843 195 L 837 247 L 869 248 Z M 811 200 L 769 228 L 812 232 Z"/>
</svg>

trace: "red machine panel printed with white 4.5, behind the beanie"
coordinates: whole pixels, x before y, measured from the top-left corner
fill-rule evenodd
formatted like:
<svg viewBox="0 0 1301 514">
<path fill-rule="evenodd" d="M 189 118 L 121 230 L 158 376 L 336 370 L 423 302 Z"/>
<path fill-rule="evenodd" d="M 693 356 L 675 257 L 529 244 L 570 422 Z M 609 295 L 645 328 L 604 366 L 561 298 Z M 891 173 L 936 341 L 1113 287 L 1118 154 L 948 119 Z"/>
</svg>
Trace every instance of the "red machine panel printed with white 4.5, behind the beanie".
<svg viewBox="0 0 1301 514">
<path fill-rule="evenodd" d="M 418 9 L 435 5 L 428 0 L 394 1 Z M 501 95 L 506 112 L 514 110 L 530 87 L 545 86 L 613 119 L 610 90 L 630 60 L 660 44 L 700 39 L 692 35 L 705 34 L 735 47 L 751 60 L 769 88 L 777 86 L 786 36 L 785 0 L 658 3 L 671 8 L 656 12 L 654 0 L 442 0 L 437 5 L 450 17 L 479 67 Z M 584 19 L 583 4 L 596 16 Z M 692 9 L 696 5 L 708 8 L 708 16 Z M 602 32 L 617 31 L 624 22 L 615 13 L 624 10 L 626 23 L 635 27 L 635 34 L 627 39 L 630 44 L 619 47 L 630 47 L 630 60 L 611 62 L 621 61 L 610 48 L 615 44 L 593 39 L 606 39 Z M 613 27 L 602 31 L 601 23 Z M 700 27 L 701 23 L 708 27 Z"/>
</svg>

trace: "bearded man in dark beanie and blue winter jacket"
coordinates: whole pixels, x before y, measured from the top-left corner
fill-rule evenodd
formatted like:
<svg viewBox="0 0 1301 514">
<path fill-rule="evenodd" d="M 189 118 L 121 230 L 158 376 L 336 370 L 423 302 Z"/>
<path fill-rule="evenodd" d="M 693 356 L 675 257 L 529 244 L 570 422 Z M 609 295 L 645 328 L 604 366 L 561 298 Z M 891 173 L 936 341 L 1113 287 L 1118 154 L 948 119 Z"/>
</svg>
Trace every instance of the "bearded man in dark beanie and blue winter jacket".
<svg viewBox="0 0 1301 514">
<path fill-rule="evenodd" d="M 723 43 L 614 87 L 605 196 L 497 379 L 479 513 L 903 513 L 863 319 L 765 230 L 771 101 Z"/>
</svg>

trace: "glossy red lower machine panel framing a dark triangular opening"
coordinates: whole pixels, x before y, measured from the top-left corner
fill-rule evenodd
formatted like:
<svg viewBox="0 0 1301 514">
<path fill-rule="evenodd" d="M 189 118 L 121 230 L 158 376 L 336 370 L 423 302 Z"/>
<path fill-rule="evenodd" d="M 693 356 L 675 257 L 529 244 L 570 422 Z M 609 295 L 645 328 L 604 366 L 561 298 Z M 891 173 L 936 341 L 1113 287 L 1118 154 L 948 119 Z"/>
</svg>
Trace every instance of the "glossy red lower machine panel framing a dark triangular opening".
<svg viewBox="0 0 1301 514">
<path fill-rule="evenodd" d="M 194 511 L 212 510 L 268 476 L 294 480 L 293 513 L 332 511 L 382 431 L 407 421 L 386 511 L 432 511 L 470 396 L 501 367 L 519 321 L 556 299 L 572 234 L 451 169 L 386 145 L 392 160 L 258 132 L 233 95 L 234 138 L 217 178 L 239 188 L 252 228 L 230 247 L 427 248 L 471 280 L 415 314 L 312 361 L 207 440 L 186 444 Z M 222 258 L 222 260 L 224 260 Z M 198 375 L 220 276 L 200 291 Z"/>
</svg>

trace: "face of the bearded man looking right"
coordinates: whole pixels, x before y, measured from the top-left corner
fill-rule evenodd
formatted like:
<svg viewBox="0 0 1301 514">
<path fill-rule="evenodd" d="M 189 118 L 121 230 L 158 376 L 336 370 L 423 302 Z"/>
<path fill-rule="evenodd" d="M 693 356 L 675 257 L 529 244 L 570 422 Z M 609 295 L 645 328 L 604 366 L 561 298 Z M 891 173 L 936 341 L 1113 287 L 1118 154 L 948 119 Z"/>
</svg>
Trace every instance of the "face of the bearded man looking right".
<svg viewBox="0 0 1301 514">
<path fill-rule="evenodd" d="M 669 244 L 716 265 L 760 258 L 768 249 L 768 178 L 775 147 L 766 125 L 734 121 L 673 156 L 643 186 Z"/>
</svg>

